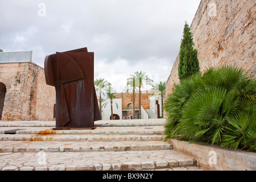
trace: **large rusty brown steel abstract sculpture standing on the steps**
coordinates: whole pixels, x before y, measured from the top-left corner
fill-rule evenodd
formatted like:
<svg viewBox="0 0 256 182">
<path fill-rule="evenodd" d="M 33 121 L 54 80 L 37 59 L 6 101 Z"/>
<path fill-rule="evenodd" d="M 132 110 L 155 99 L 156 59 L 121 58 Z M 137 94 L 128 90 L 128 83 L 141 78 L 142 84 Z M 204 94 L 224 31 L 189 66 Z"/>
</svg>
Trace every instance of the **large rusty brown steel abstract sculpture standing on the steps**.
<svg viewBox="0 0 256 182">
<path fill-rule="evenodd" d="M 44 61 L 46 84 L 56 90 L 56 128 L 94 129 L 101 120 L 94 88 L 94 53 L 87 48 L 56 52 Z"/>
</svg>

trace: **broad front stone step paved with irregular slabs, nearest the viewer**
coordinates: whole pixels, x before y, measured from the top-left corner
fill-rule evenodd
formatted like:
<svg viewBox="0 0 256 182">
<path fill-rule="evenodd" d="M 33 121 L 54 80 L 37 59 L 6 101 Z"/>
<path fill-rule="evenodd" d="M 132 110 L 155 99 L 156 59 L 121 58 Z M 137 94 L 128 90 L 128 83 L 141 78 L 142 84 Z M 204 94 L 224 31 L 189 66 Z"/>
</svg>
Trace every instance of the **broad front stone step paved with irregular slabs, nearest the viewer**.
<svg viewBox="0 0 256 182">
<path fill-rule="evenodd" d="M 174 150 L 0 153 L 0 170 L 138 171 L 195 166 Z"/>
</svg>

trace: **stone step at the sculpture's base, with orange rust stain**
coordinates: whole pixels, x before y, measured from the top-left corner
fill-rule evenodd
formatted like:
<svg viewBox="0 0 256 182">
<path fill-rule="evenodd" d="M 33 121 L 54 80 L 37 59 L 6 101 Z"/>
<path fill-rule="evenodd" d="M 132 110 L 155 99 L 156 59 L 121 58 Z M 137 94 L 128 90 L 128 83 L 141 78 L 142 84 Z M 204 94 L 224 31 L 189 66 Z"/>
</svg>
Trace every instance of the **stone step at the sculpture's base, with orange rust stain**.
<svg viewBox="0 0 256 182">
<path fill-rule="evenodd" d="M 15 134 L 54 134 L 54 135 L 84 135 L 84 134 L 103 134 L 103 135 L 163 135 L 163 126 L 134 126 L 134 127 L 97 127 L 94 130 L 52 130 L 51 127 L 1 127 L 0 134 L 13 132 Z"/>
</svg>

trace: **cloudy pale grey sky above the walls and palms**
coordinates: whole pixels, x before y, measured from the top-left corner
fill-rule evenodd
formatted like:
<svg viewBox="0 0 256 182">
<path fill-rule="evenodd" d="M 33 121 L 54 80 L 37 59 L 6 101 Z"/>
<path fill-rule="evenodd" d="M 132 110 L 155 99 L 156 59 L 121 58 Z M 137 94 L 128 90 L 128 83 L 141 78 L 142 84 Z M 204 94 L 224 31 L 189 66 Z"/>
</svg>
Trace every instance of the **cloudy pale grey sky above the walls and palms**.
<svg viewBox="0 0 256 182">
<path fill-rule="evenodd" d="M 33 51 L 44 67 L 55 52 L 87 47 L 94 79 L 122 92 L 136 71 L 166 81 L 179 53 L 185 21 L 200 0 L 0 0 L 0 49 Z M 144 88 L 144 90 L 149 88 Z"/>
</svg>

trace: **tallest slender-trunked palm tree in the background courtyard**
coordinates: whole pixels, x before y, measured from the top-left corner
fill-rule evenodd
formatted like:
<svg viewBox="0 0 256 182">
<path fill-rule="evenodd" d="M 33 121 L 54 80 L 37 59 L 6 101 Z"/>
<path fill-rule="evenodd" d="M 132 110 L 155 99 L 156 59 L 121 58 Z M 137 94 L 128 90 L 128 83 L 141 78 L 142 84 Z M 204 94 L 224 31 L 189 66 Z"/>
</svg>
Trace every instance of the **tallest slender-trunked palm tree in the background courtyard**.
<svg viewBox="0 0 256 182">
<path fill-rule="evenodd" d="M 142 73 L 142 71 L 133 73 L 129 79 L 133 80 L 135 87 L 139 88 L 139 119 L 141 119 L 141 88 L 143 88 L 144 85 L 152 85 L 153 80 L 148 78 L 148 75 Z"/>
</svg>

